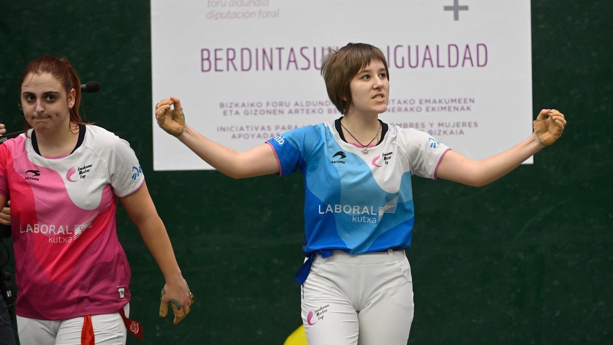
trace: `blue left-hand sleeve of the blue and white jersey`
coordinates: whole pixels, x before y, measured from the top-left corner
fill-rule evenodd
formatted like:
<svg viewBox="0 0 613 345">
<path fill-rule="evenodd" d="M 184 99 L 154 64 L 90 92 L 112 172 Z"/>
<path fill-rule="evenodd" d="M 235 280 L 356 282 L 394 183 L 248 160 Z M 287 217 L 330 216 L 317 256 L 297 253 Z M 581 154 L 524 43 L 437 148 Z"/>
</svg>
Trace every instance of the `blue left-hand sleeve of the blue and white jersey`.
<svg viewBox="0 0 613 345">
<path fill-rule="evenodd" d="M 279 134 L 266 142 L 275 151 L 279 162 L 279 176 L 289 175 L 299 169 L 308 156 L 307 138 L 314 130 L 313 126 L 305 126 Z"/>
</svg>

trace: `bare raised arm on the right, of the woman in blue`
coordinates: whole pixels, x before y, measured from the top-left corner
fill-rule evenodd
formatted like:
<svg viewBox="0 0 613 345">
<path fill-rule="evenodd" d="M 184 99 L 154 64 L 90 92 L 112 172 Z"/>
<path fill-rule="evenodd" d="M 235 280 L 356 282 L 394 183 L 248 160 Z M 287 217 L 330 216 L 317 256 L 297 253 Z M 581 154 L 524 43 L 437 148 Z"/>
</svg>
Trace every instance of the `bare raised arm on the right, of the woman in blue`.
<svg viewBox="0 0 613 345">
<path fill-rule="evenodd" d="M 564 115 L 555 109 L 543 109 L 534 122 L 530 137 L 498 155 L 475 161 L 453 150 L 448 151 L 438 166 L 437 176 L 473 187 L 482 187 L 517 168 L 528 157 L 546 145 L 553 144 L 566 126 Z"/>
</svg>

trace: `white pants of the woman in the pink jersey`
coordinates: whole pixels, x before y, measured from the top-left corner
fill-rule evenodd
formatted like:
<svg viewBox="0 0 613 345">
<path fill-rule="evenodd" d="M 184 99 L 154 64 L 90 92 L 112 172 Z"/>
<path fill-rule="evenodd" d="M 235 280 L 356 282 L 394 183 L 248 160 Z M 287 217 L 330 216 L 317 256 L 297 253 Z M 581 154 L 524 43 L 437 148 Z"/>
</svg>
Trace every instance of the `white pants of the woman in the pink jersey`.
<svg viewBox="0 0 613 345">
<path fill-rule="evenodd" d="M 129 303 L 123 306 L 126 317 Z M 128 331 L 119 312 L 91 316 L 96 345 L 126 344 Z M 83 316 L 67 320 L 39 320 L 17 316 L 21 345 L 80 345 Z"/>
</svg>

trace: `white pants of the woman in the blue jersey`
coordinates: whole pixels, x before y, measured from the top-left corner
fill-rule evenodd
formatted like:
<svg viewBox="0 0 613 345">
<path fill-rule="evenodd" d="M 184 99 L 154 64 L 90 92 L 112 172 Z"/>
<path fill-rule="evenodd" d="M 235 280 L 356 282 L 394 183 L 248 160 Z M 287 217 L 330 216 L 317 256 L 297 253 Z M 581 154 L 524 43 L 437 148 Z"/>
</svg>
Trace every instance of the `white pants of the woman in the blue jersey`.
<svg viewBox="0 0 613 345">
<path fill-rule="evenodd" d="M 404 250 L 318 255 L 300 291 L 310 345 L 406 345 L 413 279 Z"/>
</svg>

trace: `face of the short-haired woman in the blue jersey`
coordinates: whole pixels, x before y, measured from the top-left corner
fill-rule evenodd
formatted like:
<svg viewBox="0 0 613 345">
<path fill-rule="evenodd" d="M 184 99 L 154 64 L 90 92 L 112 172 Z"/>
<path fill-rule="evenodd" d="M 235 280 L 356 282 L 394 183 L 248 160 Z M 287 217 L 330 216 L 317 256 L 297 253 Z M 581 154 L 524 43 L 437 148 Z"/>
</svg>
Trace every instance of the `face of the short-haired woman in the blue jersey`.
<svg viewBox="0 0 613 345">
<path fill-rule="evenodd" d="M 381 114 L 387 110 L 389 80 L 383 62 L 370 61 L 349 83 L 351 104 L 348 113 Z"/>
</svg>

